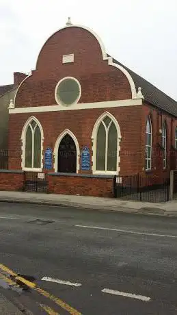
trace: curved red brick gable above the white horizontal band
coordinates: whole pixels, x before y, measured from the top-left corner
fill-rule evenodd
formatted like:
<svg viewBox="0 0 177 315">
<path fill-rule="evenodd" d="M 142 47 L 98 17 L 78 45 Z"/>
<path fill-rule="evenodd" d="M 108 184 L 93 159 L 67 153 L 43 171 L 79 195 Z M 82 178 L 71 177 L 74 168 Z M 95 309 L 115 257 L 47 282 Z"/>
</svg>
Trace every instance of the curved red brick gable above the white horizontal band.
<svg viewBox="0 0 177 315">
<path fill-rule="evenodd" d="M 74 62 L 62 64 L 62 56 L 68 53 L 74 53 Z M 15 107 L 55 105 L 55 86 L 67 76 L 81 83 L 79 103 L 131 99 L 128 79 L 103 60 L 94 35 L 68 27 L 57 31 L 42 47 L 36 71 L 18 89 Z"/>
</svg>

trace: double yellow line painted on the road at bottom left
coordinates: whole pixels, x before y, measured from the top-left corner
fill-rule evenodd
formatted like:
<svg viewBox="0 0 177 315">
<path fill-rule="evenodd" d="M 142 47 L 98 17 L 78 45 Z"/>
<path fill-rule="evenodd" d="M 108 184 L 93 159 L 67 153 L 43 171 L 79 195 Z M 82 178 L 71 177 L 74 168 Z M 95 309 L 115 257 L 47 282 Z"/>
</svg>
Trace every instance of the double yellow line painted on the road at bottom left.
<svg viewBox="0 0 177 315">
<path fill-rule="evenodd" d="M 18 276 L 16 273 L 14 273 L 14 271 L 12 271 L 10 268 L 6 267 L 3 264 L 0 264 L 0 269 L 3 270 L 5 273 L 8 273 L 8 275 L 11 275 L 12 277 L 15 278 L 15 280 L 21 281 L 22 283 L 24 283 L 26 286 L 28 286 L 29 288 L 35 290 L 36 292 L 40 293 L 41 295 L 43 295 L 44 297 L 50 299 L 51 301 L 53 301 L 55 304 L 59 305 L 60 307 L 62 307 L 64 310 L 66 310 L 69 314 L 71 315 L 81 315 L 80 312 L 78 312 L 77 310 L 74 310 L 73 307 L 71 307 L 70 305 L 68 305 L 67 303 L 65 303 L 64 301 L 62 301 L 61 299 L 59 299 L 58 297 L 54 297 L 53 294 L 46 292 L 44 290 L 42 290 L 41 288 L 36 286 L 36 283 L 33 283 L 31 281 L 28 281 L 27 279 L 24 279 L 23 277 Z M 16 282 L 14 282 L 11 279 L 8 279 L 7 277 L 5 277 L 4 275 L 0 275 L 1 279 L 4 278 L 4 280 L 6 282 L 8 282 L 11 285 L 16 284 Z M 44 305 L 43 305 L 44 308 Z M 50 307 L 48 308 L 48 310 L 50 309 Z M 47 307 L 46 307 L 47 310 Z M 53 313 L 49 313 L 48 314 L 57 314 L 55 312 Z"/>
</svg>

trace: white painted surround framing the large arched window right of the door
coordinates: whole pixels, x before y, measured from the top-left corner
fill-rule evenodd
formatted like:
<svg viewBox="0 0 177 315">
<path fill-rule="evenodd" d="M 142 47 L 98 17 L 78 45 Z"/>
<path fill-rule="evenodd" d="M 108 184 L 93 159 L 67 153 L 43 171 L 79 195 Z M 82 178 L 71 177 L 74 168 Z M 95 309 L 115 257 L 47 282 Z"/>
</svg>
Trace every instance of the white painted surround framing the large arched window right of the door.
<svg viewBox="0 0 177 315">
<path fill-rule="evenodd" d="M 117 133 L 118 133 L 118 144 L 117 144 L 117 170 L 116 171 L 97 171 L 96 170 L 96 139 L 97 139 L 97 132 L 98 132 L 98 127 L 100 126 L 100 123 L 103 121 L 103 119 L 108 116 L 111 121 L 113 121 Z M 94 129 L 92 131 L 92 171 L 93 174 L 101 174 L 101 175 L 118 175 L 120 172 L 120 140 L 121 140 L 121 132 L 120 132 L 120 126 L 118 124 L 118 121 L 116 121 L 115 117 L 110 114 L 109 112 L 104 112 L 103 114 L 100 115 L 100 117 L 97 119 L 96 123 L 94 124 Z"/>
</svg>

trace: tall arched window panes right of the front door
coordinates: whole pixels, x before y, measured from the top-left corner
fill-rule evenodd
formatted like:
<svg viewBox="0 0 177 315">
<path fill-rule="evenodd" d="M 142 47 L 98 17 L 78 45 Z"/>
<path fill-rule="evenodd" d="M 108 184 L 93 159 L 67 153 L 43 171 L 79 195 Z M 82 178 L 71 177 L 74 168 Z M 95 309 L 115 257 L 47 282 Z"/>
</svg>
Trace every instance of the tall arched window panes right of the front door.
<svg viewBox="0 0 177 315">
<path fill-rule="evenodd" d="M 100 122 L 96 135 L 96 171 L 117 171 L 118 132 L 109 116 Z"/>
</svg>

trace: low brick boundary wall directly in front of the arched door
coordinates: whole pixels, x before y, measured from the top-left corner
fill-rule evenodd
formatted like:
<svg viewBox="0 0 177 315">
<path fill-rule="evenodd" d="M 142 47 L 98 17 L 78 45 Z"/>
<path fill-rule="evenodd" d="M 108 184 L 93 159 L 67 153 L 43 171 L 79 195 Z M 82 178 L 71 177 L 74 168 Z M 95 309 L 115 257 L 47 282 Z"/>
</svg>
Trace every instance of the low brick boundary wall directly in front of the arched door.
<svg viewBox="0 0 177 315">
<path fill-rule="evenodd" d="M 81 196 L 113 197 L 113 177 L 48 175 L 49 192 Z"/>
</svg>

